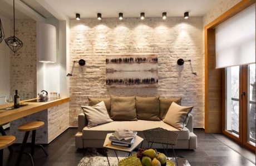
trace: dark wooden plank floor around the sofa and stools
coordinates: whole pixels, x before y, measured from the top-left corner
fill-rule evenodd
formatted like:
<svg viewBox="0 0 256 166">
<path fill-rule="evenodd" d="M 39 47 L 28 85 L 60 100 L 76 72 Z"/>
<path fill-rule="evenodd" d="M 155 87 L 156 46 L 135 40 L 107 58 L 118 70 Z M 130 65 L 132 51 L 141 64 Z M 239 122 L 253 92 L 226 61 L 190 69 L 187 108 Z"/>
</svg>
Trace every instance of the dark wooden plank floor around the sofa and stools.
<svg viewBox="0 0 256 166">
<path fill-rule="evenodd" d="M 45 157 L 41 149 L 36 149 L 35 165 L 77 165 L 83 153 L 77 152 L 75 148 L 76 132 L 77 128 L 70 128 L 46 146 L 48 157 Z M 191 165 L 255 165 L 253 152 L 240 147 L 222 134 L 206 134 L 203 129 L 195 129 L 194 133 L 198 136 L 198 149 L 175 150 L 176 155 L 182 155 Z M 9 155 L 8 149 L 4 149 L 4 165 L 14 165 L 16 159 L 17 153 Z M 23 155 L 21 165 L 31 165 L 27 155 Z"/>
</svg>

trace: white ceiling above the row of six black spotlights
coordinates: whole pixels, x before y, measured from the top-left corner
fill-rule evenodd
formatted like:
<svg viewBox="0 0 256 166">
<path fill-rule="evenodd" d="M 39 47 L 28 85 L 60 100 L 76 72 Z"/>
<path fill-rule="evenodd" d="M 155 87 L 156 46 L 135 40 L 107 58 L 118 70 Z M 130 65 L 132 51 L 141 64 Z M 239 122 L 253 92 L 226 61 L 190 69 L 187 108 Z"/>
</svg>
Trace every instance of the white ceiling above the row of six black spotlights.
<svg viewBox="0 0 256 166">
<path fill-rule="evenodd" d="M 117 17 L 119 12 L 124 17 L 139 17 L 145 12 L 146 17 L 161 17 L 163 12 L 168 16 L 182 17 L 184 12 L 190 16 L 203 16 L 217 0 L 45 0 L 56 11 L 61 11 L 68 18 L 80 13 L 81 18 L 95 18 L 97 13 L 103 17 Z"/>
</svg>

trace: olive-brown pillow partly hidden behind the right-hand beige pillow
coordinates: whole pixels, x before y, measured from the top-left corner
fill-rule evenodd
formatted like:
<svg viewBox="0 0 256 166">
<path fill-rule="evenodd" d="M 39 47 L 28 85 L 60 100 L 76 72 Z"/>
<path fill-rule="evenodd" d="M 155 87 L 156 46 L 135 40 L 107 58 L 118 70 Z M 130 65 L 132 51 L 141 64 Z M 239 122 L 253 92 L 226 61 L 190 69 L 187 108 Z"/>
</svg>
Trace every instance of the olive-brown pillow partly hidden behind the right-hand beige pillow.
<svg viewBox="0 0 256 166">
<path fill-rule="evenodd" d="M 181 105 L 181 98 L 159 98 L 160 101 L 160 119 L 163 120 L 165 118 L 166 113 L 171 106 L 171 103 L 175 102 L 178 105 Z"/>
</svg>

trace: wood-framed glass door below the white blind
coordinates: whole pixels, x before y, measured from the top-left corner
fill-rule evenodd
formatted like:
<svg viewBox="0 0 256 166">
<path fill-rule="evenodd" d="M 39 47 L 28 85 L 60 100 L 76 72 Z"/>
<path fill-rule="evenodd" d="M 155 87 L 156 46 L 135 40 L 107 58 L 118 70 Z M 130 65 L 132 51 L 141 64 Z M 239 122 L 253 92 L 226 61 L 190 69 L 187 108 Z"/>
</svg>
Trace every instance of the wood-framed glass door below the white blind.
<svg viewBox="0 0 256 166">
<path fill-rule="evenodd" d="M 255 150 L 255 64 L 225 69 L 223 133 Z"/>
</svg>

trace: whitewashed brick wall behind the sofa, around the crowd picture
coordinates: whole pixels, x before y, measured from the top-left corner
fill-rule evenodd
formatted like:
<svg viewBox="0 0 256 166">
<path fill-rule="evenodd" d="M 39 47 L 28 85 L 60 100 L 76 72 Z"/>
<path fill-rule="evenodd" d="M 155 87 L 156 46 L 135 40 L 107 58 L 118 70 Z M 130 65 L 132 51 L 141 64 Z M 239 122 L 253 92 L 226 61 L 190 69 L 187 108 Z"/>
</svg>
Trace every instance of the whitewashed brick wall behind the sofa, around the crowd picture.
<svg viewBox="0 0 256 166">
<path fill-rule="evenodd" d="M 86 66 L 75 66 L 70 77 L 70 126 L 77 126 L 81 105 L 88 97 L 154 96 L 182 97 L 183 106 L 194 106 L 194 127 L 203 127 L 202 32 L 201 17 L 95 18 L 71 20 L 70 62 L 85 59 Z M 108 89 L 105 85 L 106 55 L 154 53 L 159 57 L 159 85 L 155 89 Z M 191 59 L 178 66 L 179 58 Z M 72 64 L 70 63 L 70 66 Z"/>
</svg>

